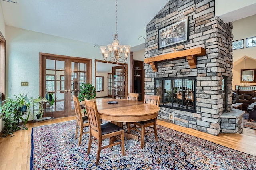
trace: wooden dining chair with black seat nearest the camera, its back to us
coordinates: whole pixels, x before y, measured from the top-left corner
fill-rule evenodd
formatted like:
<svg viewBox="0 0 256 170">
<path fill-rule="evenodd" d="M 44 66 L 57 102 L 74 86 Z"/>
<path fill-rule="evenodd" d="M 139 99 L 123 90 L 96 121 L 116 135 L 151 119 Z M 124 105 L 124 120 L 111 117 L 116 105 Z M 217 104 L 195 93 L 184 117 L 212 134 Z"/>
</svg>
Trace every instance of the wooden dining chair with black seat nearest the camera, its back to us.
<svg viewBox="0 0 256 170">
<path fill-rule="evenodd" d="M 98 165 L 99 163 L 100 151 L 108 147 L 121 144 L 121 152 L 122 152 L 122 156 L 124 156 L 124 129 L 111 122 L 100 124 L 96 101 L 84 99 L 84 103 L 85 103 L 85 107 L 86 107 L 86 111 L 89 119 L 89 127 L 90 127 L 87 154 L 90 154 L 90 149 L 93 141 L 98 145 L 98 151 L 97 151 L 96 162 L 95 162 L 96 165 Z M 106 138 L 112 138 L 112 137 L 116 137 L 121 141 L 116 143 L 114 141 L 113 143 L 110 143 L 106 146 L 102 146 L 102 140 Z M 98 140 L 98 142 L 96 140 Z"/>
</svg>

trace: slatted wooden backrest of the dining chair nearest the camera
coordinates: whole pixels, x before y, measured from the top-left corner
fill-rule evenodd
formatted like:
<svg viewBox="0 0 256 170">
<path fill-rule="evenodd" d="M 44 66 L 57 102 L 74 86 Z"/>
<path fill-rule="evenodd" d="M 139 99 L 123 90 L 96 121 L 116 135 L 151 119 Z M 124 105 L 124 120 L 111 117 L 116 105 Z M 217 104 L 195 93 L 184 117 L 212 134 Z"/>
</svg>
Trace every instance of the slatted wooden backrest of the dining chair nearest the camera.
<svg viewBox="0 0 256 170">
<path fill-rule="evenodd" d="M 97 139 L 101 139 L 100 118 L 95 100 L 84 99 L 84 104 L 88 116 L 90 133 Z"/>
</svg>

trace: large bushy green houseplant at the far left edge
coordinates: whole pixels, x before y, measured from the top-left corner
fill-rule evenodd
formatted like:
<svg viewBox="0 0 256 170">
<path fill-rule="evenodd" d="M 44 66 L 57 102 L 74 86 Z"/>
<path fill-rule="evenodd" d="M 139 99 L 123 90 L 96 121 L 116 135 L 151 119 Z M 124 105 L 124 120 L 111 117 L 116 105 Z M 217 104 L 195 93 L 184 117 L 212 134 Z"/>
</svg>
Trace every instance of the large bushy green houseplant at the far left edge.
<svg viewBox="0 0 256 170">
<path fill-rule="evenodd" d="M 23 112 L 20 109 L 23 105 L 26 105 L 28 111 Z M 24 115 L 27 115 L 26 119 L 23 118 Z M 4 100 L 0 107 L 0 117 L 3 117 L 4 121 L 2 137 L 13 134 L 16 130 L 28 129 L 25 125 L 28 122 L 29 115 L 30 102 L 26 95 L 14 95 L 14 99 L 8 97 Z M 20 124 L 20 121 L 23 122 L 23 125 Z"/>
</svg>

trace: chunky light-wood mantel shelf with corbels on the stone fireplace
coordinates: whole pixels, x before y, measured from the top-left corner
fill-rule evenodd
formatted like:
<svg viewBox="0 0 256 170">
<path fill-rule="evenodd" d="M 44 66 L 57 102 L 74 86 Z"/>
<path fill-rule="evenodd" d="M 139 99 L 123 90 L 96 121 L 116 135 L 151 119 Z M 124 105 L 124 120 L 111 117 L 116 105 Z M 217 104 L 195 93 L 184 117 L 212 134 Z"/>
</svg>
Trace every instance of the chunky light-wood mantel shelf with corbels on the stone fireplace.
<svg viewBox="0 0 256 170">
<path fill-rule="evenodd" d="M 144 59 L 144 63 L 149 63 L 154 72 L 157 71 L 157 63 L 168 61 L 168 59 L 181 59 L 185 58 L 188 60 L 188 64 L 190 65 L 190 69 L 196 68 L 196 60 L 197 56 L 204 56 L 206 51 L 202 47 L 197 47 L 193 49 L 186 49 L 183 51 L 176 51 L 173 53 L 168 53 L 164 55 L 159 55 L 156 57 L 150 57 Z"/>
</svg>

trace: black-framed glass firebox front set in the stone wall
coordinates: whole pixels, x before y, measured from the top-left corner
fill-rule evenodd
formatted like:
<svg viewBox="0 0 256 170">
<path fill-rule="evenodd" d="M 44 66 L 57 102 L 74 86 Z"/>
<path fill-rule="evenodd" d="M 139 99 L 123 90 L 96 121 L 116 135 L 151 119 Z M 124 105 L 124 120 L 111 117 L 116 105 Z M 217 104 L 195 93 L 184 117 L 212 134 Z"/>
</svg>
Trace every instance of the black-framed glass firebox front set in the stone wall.
<svg viewBox="0 0 256 170">
<path fill-rule="evenodd" d="M 155 94 L 162 107 L 196 112 L 196 77 L 155 79 Z"/>
</svg>

